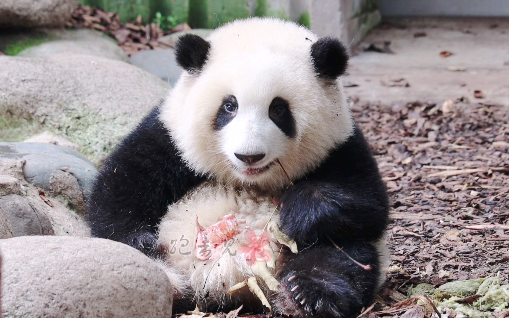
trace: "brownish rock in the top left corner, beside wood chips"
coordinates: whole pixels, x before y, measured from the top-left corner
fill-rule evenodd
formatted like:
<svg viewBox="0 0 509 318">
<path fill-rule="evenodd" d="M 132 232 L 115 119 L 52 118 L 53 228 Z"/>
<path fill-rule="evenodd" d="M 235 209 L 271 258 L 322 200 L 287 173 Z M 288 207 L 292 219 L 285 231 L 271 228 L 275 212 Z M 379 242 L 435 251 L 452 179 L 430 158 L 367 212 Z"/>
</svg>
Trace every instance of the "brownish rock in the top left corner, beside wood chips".
<svg viewBox="0 0 509 318">
<path fill-rule="evenodd" d="M 2 0 L 0 27 L 61 27 L 75 6 L 72 0 Z"/>
</svg>

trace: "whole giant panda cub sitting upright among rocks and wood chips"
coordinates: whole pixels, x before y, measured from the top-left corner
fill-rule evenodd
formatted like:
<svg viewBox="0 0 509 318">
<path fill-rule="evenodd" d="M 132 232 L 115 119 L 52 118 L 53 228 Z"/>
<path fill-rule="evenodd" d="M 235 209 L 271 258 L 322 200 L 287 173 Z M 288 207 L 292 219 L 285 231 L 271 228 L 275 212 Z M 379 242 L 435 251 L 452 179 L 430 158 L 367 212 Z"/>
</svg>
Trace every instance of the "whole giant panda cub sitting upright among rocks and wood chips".
<svg viewBox="0 0 509 318">
<path fill-rule="evenodd" d="M 156 259 L 178 310 L 359 314 L 383 281 L 389 204 L 343 92 L 346 48 L 249 18 L 182 36 L 176 61 L 175 88 L 95 180 L 92 234 Z M 270 256 L 262 272 L 240 250 L 253 237 Z"/>
</svg>

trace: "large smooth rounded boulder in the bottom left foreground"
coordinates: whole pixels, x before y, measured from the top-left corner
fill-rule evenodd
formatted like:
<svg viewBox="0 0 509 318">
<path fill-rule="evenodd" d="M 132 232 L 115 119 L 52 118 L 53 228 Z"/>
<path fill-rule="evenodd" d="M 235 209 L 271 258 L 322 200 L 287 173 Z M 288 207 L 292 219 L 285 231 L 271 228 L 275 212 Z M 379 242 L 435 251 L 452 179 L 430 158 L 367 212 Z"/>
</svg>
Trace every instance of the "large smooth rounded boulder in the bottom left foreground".
<svg viewBox="0 0 509 318">
<path fill-rule="evenodd" d="M 169 317 L 172 286 L 142 252 L 97 238 L 0 240 L 10 317 Z"/>
</svg>

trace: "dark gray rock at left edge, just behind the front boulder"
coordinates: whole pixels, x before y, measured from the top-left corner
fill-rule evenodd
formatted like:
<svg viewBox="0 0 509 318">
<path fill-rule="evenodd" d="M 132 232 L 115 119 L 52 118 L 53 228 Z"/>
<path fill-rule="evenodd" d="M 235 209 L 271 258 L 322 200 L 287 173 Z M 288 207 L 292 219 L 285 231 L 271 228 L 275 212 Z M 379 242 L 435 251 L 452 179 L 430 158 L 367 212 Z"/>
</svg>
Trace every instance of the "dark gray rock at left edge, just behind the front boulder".
<svg viewBox="0 0 509 318">
<path fill-rule="evenodd" d="M 0 211 L 7 216 L 13 236 L 54 234 L 46 214 L 38 212 L 30 200 L 21 195 L 1 196 Z"/>
</svg>

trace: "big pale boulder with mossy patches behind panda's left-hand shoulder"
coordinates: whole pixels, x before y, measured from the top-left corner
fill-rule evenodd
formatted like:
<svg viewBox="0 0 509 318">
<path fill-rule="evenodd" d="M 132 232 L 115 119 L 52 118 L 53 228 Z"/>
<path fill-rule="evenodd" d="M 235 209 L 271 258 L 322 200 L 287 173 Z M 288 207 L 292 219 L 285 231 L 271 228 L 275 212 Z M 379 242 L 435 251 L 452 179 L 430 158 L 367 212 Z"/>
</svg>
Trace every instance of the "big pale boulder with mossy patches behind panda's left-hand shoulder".
<svg viewBox="0 0 509 318">
<path fill-rule="evenodd" d="M 49 59 L 0 56 L 3 140 L 49 130 L 100 163 L 169 86 L 132 65 L 89 55 Z"/>
</svg>

